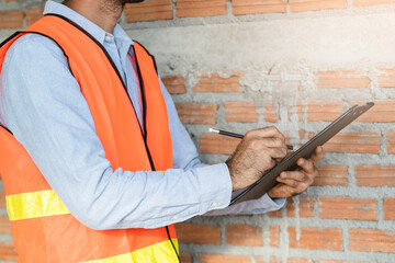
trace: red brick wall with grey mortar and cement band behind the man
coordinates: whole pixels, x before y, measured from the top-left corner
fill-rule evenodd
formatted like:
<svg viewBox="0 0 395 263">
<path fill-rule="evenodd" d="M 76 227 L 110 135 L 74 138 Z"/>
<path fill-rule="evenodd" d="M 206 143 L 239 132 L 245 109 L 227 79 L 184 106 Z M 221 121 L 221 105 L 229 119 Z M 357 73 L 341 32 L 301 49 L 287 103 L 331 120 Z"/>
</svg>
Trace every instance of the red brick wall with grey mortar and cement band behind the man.
<svg viewBox="0 0 395 263">
<path fill-rule="evenodd" d="M 0 38 L 44 1 L 0 0 Z M 182 262 L 395 262 L 395 1 L 153 0 L 122 24 L 156 55 L 181 121 L 208 163 L 237 133 L 278 126 L 305 142 L 351 105 L 376 106 L 325 145 L 306 193 L 268 215 L 177 225 Z M 0 260 L 16 261 L 0 192 Z"/>
</svg>

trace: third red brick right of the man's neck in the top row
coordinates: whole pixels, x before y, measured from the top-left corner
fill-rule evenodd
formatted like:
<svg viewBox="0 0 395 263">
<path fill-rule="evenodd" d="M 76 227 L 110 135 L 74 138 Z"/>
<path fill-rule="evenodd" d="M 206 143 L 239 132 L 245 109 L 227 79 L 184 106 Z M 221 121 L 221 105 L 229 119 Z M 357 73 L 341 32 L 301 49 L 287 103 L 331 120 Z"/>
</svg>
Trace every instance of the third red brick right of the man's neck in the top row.
<svg viewBox="0 0 395 263">
<path fill-rule="evenodd" d="M 233 0 L 232 8 L 235 15 L 257 13 L 285 13 L 286 2 L 282 0 Z"/>
</svg>

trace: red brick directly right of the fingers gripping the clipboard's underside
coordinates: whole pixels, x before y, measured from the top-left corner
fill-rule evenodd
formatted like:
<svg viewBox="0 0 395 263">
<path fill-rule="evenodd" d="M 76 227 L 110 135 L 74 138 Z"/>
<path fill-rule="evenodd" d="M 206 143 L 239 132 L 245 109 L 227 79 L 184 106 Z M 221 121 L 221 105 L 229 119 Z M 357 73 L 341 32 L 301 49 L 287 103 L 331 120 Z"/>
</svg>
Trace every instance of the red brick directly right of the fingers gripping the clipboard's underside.
<svg viewBox="0 0 395 263">
<path fill-rule="evenodd" d="M 318 167 L 319 174 L 315 178 L 315 186 L 348 185 L 348 167 L 346 165 L 320 165 Z"/>
</svg>

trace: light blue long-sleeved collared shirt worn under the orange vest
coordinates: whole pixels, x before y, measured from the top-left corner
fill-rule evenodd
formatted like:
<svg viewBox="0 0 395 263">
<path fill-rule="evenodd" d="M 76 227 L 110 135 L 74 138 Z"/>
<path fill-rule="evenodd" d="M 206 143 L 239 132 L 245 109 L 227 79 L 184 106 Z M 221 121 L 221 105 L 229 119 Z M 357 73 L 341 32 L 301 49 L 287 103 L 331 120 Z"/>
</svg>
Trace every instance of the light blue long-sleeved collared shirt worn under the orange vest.
<svg viewBox="0 0 395 263">
<path fill-rule="evenodd" d="M 44 13 L 70 19 L 105 47 L 142 122 L 136 66 L 128 58 L 133 41 L 123 28 L 116 25 L 109 34 L 53 1 Z M 227 207 L 232 198 L 227 165 L 201 163 L 161 82 L 174 169 L 131 172 L 112 168 L 105 159 L 87 101 L 53 41 L 35 34 L 19 38 L 7 54 L 0 77 L 0 122 L 25 147 L 70 213 L 90 228 L 157 228 L 198 215 L 266 213 L 284 205 L 284 199 L 274 202 L 263 195 Z"/>
</svg>

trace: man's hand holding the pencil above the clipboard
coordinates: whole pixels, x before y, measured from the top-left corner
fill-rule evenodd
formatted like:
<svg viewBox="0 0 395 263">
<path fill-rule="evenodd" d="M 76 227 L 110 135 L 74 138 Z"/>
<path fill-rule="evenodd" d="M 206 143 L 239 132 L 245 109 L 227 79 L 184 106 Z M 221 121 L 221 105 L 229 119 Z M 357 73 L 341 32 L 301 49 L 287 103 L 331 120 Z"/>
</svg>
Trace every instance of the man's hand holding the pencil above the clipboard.
<svg viewBox="0 0 395 263">
<path fill-rule="evenodd" d="M 248 132 L 234 155 L 226 161 L 233 191 L 257 182 L 264 172 L 285 158 L 286 152 L 285 137 L 275 127 Z"/>
</svg>

